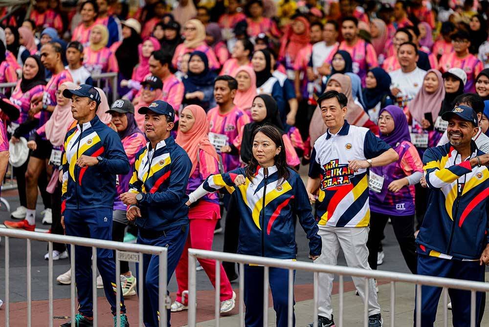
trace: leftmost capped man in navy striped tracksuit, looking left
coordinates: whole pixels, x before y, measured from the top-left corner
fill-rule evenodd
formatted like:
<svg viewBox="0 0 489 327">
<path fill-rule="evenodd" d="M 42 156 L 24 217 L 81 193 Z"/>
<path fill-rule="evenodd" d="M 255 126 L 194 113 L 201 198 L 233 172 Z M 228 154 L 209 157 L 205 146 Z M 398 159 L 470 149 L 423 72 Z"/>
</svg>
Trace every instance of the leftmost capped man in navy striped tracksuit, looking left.
<svg viewBox="0 0 489 327">
<path fill-rule="evenodd" d="M 71 112 L 77 124 L 65 138 L 62 225 L 66 235 L 111 241 L 115 176 L 129 172 L 129 161 L 117 132 L 95 114 L 100 104 L 98 91 L 82 84 L 75 90 L 66 89 L 63 95 L 72 100 Z M 93 326 L 91 256 L 89 247 L 75 247 L 79 313 L 74 320 L 78 327 Z M 115 276 L 112 250 L 97 248 L 97 267 L 111 304 L 114 326 L 116 310 L 120 309 L 120 327 L 128 327 L 124 300 L 115 303 L 115 278 L 119 276 Z M 68 326 L 70 323 L 62 325 Z"/>
</svg>

